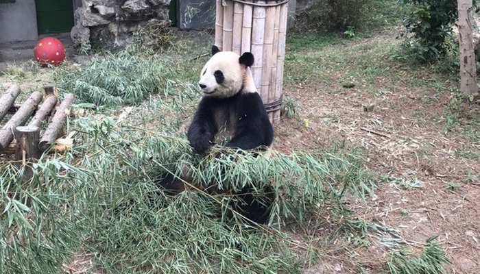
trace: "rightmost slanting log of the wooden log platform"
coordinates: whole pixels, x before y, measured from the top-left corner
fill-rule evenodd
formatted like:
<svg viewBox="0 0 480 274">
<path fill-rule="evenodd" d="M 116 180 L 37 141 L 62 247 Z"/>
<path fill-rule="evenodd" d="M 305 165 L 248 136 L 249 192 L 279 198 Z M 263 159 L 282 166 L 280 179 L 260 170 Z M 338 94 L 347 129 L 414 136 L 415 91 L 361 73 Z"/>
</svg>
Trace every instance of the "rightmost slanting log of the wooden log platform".
<svg viewBox="0 0 480 274">
<path fill-rule="evenodd" d="M 53 115 L 53 119 L 51 120 L 50 125 L 47 127 L 43 136 L 38 143 L 38 147 L 40 151 L 47 150 L 51 145 L 54 144 L 57 136 L 60 132 L 62 132 L 63 125 L 65 123 L 65 119 L 69 114 L 69 107 L 73 102 L 73 94 L 69 93 L 67 96 L 64 97 L 60 107 Z"/>
</svg>

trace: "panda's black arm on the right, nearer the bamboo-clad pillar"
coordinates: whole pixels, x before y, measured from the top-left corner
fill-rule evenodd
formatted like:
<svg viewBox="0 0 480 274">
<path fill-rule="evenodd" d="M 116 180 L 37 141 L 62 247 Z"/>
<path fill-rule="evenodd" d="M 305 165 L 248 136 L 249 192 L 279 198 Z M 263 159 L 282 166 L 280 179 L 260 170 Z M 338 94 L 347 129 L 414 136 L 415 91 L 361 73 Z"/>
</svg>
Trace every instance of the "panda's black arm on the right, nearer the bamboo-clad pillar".
<svg viewBox="0 0 480 274">
<path fill-rule="evenodd" d="M 245 93 L 238 99 L 236 105 L 235 136 L 226 147 L 247 150 L 272 145 L 274 136 L 272 124 L 259 94 Z"/>
</svg>

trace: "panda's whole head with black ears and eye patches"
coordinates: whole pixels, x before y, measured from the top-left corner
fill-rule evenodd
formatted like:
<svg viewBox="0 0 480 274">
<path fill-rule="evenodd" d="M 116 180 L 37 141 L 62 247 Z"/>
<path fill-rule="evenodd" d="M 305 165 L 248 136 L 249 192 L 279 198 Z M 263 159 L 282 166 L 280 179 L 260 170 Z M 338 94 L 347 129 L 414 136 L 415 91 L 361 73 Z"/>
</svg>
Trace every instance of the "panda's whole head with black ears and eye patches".
<svg viewBox="0 0 480 274">
<path fill-rule="evenodd" d="M 250 52 L 240 56 L 232 51 L 220 51 L 213 46 L 212 57 L 200 73 L 200 90 L 204 96 L 228 98 L 245 86 L 254 88 L 250 71 L 253 62 L 254 57 Z"/>
</svg>

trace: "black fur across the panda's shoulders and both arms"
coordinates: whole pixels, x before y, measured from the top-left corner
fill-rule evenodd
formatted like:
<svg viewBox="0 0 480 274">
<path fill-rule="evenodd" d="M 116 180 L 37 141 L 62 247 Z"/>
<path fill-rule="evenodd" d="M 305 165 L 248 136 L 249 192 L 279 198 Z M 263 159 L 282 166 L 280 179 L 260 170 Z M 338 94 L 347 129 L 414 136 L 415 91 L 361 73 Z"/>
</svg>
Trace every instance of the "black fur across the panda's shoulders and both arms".
<svg viewBox="0 0 480 274">
<path fill-rule="evenodd" d="M 259 94 L 239 92 L 230 98 L 204 97 L 200 101 L 187 133 L 190 145 L 195 151 L 204 153 L 213 145 L 213 139 L 219 130 L 214 114 L 219 108 L 225 107 L 235 110 L 237 120 L 235 136 L 232 136 L 226 147 L 248 150 L 272 144 L 272 124 Z"/>
</svg>

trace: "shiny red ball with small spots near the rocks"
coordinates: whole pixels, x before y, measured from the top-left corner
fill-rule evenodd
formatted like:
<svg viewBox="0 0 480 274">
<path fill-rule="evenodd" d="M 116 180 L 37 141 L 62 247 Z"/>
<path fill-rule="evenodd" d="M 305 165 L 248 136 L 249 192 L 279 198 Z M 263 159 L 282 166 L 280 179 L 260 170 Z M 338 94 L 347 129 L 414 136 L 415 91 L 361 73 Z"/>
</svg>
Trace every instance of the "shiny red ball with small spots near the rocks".
<svg viewBox="0 0 480 274">
<path fill-rule="evenodd" d="M 57 65 L 65 59 L 65 47 L 60 40 L 46 37 L 36 43 L 34 55 L 35 60 L 43 66 Z"/>
</svg>

